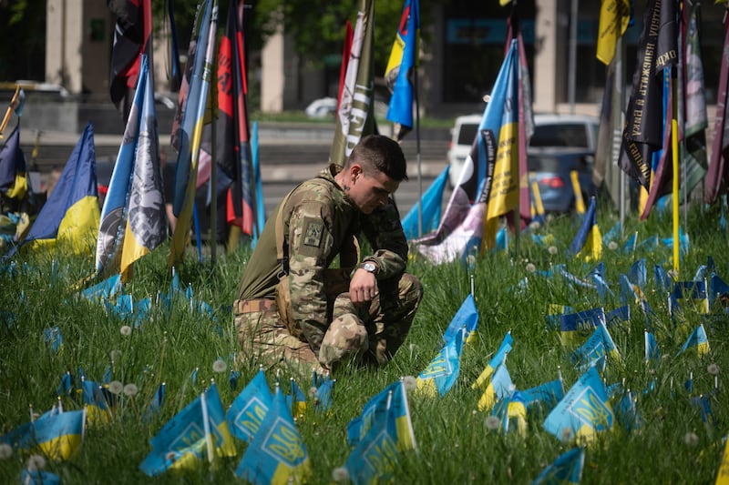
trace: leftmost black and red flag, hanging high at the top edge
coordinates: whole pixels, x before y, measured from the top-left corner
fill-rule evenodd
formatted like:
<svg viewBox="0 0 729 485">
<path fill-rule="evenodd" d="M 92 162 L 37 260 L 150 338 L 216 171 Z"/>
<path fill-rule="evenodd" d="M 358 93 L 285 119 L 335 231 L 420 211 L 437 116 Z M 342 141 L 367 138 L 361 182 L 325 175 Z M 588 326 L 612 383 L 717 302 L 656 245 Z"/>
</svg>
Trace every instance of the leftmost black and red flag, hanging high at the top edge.
<svg viewBox="0 0 729 485">
<path fill-rule="evenodd" d="M 139 55 L 146 54 L 152 65 L 151 0 L 107 0 L 117 15 L 114 45 L 111 48 L 111 101 L 126 122 L 139 78 Z M 149 69 L 151 75 L 151 69 Z"/>
</svg>

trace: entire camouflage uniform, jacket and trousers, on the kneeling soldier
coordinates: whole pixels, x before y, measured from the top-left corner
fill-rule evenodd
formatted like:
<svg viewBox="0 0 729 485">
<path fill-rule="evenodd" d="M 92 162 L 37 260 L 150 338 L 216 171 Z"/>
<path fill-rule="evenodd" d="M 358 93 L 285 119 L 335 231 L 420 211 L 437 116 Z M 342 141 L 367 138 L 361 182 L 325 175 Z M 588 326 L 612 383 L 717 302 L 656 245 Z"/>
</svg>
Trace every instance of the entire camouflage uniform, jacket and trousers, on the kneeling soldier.
<svg viewBox="0 0 729 485">
<path fill-rule="evenodd" d="M 407 242 L 391 201 L 364 215 L 334 181 L 330 166 L 293 189 L 263 228 L 241 278 L 233 305 L 242 357 L 303 370 L 331 369 L 350 359 L 385 364 L 406 338 L 422 298 L 420 281 L 405 273 Z M 276 225 L 281 214 L 288 274 L 279 284 Z M 353 237 L 362 233 L 375 253 L 379 294 L 365 305 L 349 298 L 349 276 L 358 256 Z M 281 237 L 281 235 L 280 235 Z M 341 268 L 330 268 L 339 257 Z M 288 314 L 277 290 L 288 284 Z M 280 288 L 282 287 L 282 288 Z"/>
</svg>

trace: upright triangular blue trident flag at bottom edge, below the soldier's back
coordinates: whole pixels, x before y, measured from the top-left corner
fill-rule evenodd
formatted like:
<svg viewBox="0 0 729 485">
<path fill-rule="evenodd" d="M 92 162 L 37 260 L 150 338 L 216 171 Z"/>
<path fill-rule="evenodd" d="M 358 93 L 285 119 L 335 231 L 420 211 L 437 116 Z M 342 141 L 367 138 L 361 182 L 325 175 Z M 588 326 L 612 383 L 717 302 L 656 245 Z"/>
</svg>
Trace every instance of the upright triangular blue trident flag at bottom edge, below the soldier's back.
<svg viewBox="0 0 729 485">
<path fill-rule="evenodd" d="M 253 437 L 235 474 L 253 485 L 302 483 L 312 473 L 309 454 L 281 389 Z"/>
</svg>

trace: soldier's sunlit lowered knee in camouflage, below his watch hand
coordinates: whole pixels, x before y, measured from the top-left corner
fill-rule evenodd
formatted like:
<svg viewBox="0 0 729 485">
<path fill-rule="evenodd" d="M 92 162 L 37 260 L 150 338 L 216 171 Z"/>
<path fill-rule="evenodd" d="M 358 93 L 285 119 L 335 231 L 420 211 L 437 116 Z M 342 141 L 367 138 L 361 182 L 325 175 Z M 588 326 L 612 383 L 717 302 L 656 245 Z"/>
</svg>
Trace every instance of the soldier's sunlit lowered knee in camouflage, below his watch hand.
<svg viewBox="0 0 729 485">
<path fill-rule="evenodd" d="M 329 369 L 332 364 L 344 359 L 359 359 L 368 349 L 369 339 L 364 328 L 354 315 L 343 315 L 334 321 L 324 333 L 319 349 L 319 362 Z"/>
</svg>

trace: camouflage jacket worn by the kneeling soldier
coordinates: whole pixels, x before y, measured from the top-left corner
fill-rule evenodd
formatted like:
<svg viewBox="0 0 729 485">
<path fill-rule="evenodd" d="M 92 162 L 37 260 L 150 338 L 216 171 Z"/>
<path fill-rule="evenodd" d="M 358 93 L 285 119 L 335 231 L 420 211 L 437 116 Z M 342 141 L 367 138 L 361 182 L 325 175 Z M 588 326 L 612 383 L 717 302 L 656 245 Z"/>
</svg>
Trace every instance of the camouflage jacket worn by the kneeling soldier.
<svg viewBox="0 0 729 485">
<path fill-rule="evenodd" d="M 374 254 L 364 260 L 377 263 L 378 279 L 392 278 L 405 271 L 407 240 L 395 202 L 364 215 L 334 181 L 334 166 L 318 177 L 295 187 L 283 202 L 285 244 L 289 254 L 289 288 L 295 326 L 318 351 L 329 325 L 326 320 L 324 273 L 334 259 L 351 247 L 353 235 L 364 235 Z M 277 274 L 276 217 L 279 207 L 266 222 L 262 236 L 241 278 L 240 299 L 275 298 Z"/>
</svg>

